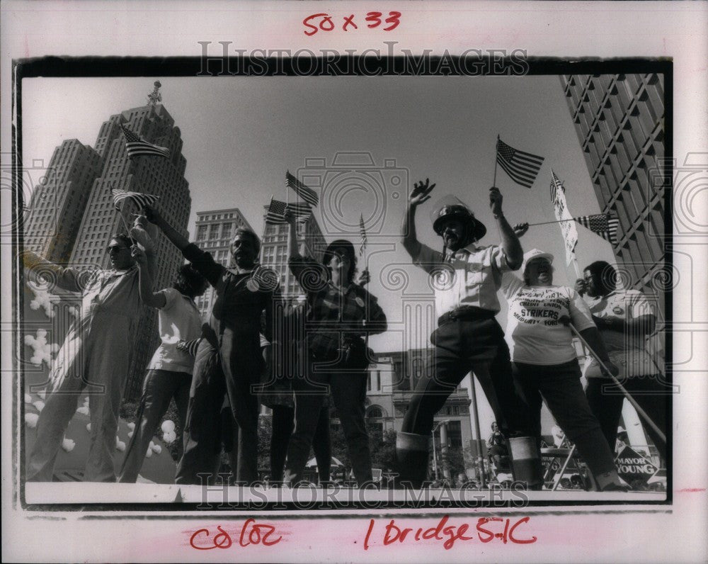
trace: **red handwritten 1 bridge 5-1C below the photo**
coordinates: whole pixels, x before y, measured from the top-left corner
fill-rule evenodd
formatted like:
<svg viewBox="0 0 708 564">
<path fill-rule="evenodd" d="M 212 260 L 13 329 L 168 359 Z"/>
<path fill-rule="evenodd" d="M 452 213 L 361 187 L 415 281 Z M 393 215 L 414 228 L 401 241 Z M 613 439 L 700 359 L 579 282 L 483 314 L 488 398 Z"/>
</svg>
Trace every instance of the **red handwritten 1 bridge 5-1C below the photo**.
<svg viewBox="0 0 708 564">
<path fill-rule="evenodd" d="M 470 531 L 469 524 L 448 524 L 449 519 L 450 517 L 445 515 L 445 517 L 440 519 L 437 526 L 430 527 L 430 529 L 423 529 L 422 527 L 418 529 L 402 527 L 397 525 L 394 519 L 391 519 L 391 521 L 384 526 L 382 538 L 383 544 L 384 546 L 389 546 L 393 543 L 404 543 L 405 541 L 418 542 L 421 540 L 435 539 L 436 541 L 442 541 L 442 548 L 449 551 L 450 548 L 455 546 L 456 541 L 474 541 L 474 538 L 478 538 L 479 541 L 483 543 L 489 543 L 495 539 L 502 541 L 504 544 L 509 541 L 515 544 L 529 544 L 536 542 L 535 536 L 531 536 L 530 538 L 521 538 L 520 531 L 517 531 L 518 526 L 530 521 L 529 517 L 523 517 L 523 519 L 516 520 L 501 519 L 501 517 L 491 517 L 489 519 L 480 517 L 476 524 L 476 535 L 474 534 L 474 531 Z M 489 523 L 495 523 L 497 521 L 501 523 L 501 525 L 489 525 Z M 364 538 L 365 551 L 369 549 L 375 523 L 375 519 L 370 519 L 369 529 L 367 530 Z"/>
</svg>

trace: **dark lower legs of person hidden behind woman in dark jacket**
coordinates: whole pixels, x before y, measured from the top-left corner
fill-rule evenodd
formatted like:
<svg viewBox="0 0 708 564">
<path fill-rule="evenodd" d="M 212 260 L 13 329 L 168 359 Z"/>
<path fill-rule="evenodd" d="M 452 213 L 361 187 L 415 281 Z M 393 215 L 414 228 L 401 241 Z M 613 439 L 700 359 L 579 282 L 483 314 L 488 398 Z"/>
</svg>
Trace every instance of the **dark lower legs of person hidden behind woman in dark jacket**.
<svg viewBox="0 0 708 564">
<path fill-rule="evenodd" d="M 273 406 L 273 434 L 270 436 L 270 479 L 282 482 L 285 470 L 285 456 L 290 436 L 295 430 L 295 409 L 289 405 Z M 312 450 L 317 461 L 320 483 L 329 482 L 332 463 L 332 447 L 329 438 L 329 405 L 319 411 L 317 427 L 312 436 Z"/>
</svg>

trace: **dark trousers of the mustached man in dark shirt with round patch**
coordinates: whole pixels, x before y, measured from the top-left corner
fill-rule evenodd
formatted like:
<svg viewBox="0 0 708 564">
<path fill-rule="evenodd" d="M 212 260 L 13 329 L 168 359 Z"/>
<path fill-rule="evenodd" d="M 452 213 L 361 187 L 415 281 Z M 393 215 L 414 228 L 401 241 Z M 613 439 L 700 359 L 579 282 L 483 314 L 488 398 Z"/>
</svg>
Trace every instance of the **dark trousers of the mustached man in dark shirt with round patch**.
<svg viewBox="0 0 708 564">
<path fill-rule="evenodd" d="M 253 483 L 258 480 L 258 398 L 252 387 L 263 369 L 258 334 L 235 335 L 227 330 L 219 349 L 213 340 L 202 339 L 197 350 L 176 483 L 201 484 L 215 479 L 222 446 L 224 394 L 239 431 L 236 481 Z M 200 479 L 199 474 L 207 476 Z"/>
</svg>

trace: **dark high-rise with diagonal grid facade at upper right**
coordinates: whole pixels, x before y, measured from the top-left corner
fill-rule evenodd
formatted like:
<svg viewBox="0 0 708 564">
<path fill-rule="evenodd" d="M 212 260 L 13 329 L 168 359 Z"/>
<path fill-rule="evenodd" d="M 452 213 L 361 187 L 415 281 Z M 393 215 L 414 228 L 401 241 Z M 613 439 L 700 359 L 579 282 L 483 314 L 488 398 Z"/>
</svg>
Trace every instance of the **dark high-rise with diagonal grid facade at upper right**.
<svg viewBox="0 0 708 564">
<path fill-rule="evenodd" d="M 561 76 L 573 123 L 603 212 L 619 218 L 617 265 L 624 281 L 655 300 L 664 261 L 663 74 Z"/>
</svg>

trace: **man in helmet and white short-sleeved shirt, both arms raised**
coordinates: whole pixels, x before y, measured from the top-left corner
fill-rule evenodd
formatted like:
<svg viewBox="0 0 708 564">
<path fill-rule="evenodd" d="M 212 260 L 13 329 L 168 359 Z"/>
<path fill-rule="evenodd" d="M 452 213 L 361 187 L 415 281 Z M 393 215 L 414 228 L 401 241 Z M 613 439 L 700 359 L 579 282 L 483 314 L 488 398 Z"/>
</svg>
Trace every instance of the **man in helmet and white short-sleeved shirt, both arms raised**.
<svg viewBox="0 0 708 564">
<path fill-rule="evenodd" d="M 426 478 L 433 417 L 469 371 L 479 380 L 504 436 L 530 434 L 527 407 L 514 388 L 509 349 L 494 317 L 501 309 L 496 295 L 501 276 L 519 269 L 523 249 L 504 218 L 498 188 L 489 191 L 489 207 L 501 233 L 501 245 L 478 246 L 486 227 L 455 196 L 442 198 L 430 214 L 433 230 L 442 237 L 442 252 L 419 242 L 416 209 L 430 199 L 434 187 L 427 179 L 414 184 L 401 226 L 402 242 L 413 263 L 433 278 L 438 316 L 438 329 L 430 336 L 435 350 L 396 437 L 401 483 L 410 482 L 414 487 Z M 525 464 L 523 454 L 515 456 L 513 442 L 511 450 L 515 478 L 539 487 L 542 476 L 525 470 L 535 465 Z"/>
</svg>

